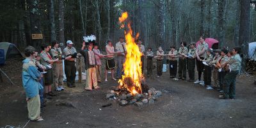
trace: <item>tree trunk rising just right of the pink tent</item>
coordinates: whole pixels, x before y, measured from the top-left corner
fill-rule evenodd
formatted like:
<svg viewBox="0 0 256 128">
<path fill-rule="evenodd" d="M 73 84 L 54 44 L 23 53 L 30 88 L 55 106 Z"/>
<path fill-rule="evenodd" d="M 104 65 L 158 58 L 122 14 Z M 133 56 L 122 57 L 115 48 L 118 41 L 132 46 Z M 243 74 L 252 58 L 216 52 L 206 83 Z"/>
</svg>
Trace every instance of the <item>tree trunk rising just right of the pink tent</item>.
<svg viewBox="0 0 256 128">
<path fill-rule="evenodd" d="M 223 49 L 225 42 L 225 29 L 224 29 L 224 10 L 225 10 L 225 0 L 218 1 L 218 40 L 219 49 Z"/>
</svg>

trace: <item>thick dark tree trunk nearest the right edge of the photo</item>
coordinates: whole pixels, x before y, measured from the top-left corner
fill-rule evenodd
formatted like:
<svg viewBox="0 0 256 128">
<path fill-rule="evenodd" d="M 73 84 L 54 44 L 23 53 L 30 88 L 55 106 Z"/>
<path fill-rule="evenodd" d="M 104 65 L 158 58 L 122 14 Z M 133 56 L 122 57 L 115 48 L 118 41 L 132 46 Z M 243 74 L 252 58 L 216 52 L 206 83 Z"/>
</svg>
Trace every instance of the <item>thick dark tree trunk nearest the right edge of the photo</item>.
<svg viewBox="0 0 256 128">
<path fill-rule="evenodd" d="M 246 59 L 248 58 L 248 43 L 250 42 L 250 0 L 240 1 L 241 15 L 240 15 L 240 29 L 239 29 L 239 44 L 242 49 L 243 59 L 242 68 L 244 71 L 246 67 Z"/>
</svg>

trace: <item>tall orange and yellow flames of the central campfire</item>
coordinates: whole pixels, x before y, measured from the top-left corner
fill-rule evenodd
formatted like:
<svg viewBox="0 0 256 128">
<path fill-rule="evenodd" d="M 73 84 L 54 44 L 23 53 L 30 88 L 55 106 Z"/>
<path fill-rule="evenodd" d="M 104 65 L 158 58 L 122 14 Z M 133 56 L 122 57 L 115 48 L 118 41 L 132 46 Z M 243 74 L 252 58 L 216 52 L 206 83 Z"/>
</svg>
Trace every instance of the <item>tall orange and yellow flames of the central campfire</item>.
<svg viewBox="0 0 256 128">
<path fill-rule="evenodd" d="M 128 13 L 122 13 L 122 16 L 119 17 L 119 22 L 124 24 L 124 21 L 127 19 Z M 125 63 L 124 63 L 124 75 L 122 79 L 118 81 L 120 84 L 120 89 L 127 89 L 133 95 L 136 93 L 142 93 L 141 90 L 141 79 L 143 79 L 143 75 L 141 72 L 141 52 L 138 45 L 136 45 L 135 40 L 132 37 L 132 29 L 131 24 L 128 22 L 127 30 L 124 31 L 125 40 L 127 42 L 126 45 L 126 55 L 125 55 Z M 137 33 L 136 38 L 138 38 L 139 34 Z"/>
</svg>

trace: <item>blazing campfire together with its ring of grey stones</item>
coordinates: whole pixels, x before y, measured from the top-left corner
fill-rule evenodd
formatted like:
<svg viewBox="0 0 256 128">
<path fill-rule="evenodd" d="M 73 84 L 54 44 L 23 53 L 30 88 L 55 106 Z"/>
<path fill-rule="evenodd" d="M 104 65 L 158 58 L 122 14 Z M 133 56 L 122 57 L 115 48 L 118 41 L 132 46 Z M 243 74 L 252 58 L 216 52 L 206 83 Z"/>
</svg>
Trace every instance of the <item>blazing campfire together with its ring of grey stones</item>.
<svg viewBox="0 0 256 128">
<path fill-rule="evenodd" d="M 128 13 L 122 13 L 119 17 L 120 27 L 125 29 L 125 63 L 124 75 L 118 81 L 118 87 L 111 87 L 106 98 L 109 100 L 118 100 L 120 106 L 127 104 L 136 104 L 142 106 L 143 104 L 152 104 L 162 93 L 154 88 L 148 88 L 143 74 L 141 72 L 141 52 L 135 40 L 138 39 L 139 33 L 134 38 L 132 36 L 132 28 L 129 22 Z M 127 26 L 125 26 L 127 24 Z"/>
</svg>

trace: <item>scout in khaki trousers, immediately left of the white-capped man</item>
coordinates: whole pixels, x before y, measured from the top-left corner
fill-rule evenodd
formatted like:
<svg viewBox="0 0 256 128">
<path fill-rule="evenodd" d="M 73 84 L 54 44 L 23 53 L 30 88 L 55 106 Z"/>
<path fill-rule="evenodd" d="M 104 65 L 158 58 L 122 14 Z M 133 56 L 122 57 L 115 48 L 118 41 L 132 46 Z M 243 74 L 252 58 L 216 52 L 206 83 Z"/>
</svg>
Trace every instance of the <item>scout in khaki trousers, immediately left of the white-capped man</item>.
<svg viewBox="0 0 256 128">
<path fill-rule="evenodd" d="M 52 59 L 59 59 L 56 63 L 52 65 L 53 71 L 53 85 L 56 87 L 56 91 L 64 90 L 63 88 L 63 65 L 62 60 L 70 59 L 71 56 L 67 56 L 67 58 L 62 57 L 62 52 L 59 47 L 59 43 L 54 40 L 52 42 L 52 49 L 50 51 L 52 55 Z"/>
</svg>

